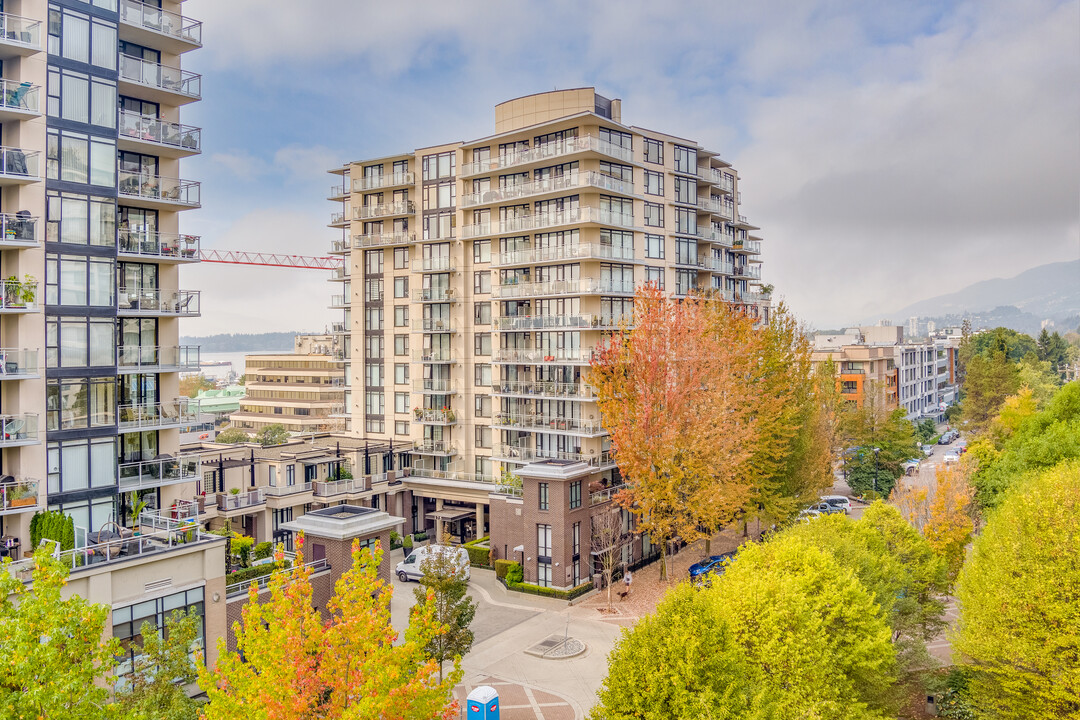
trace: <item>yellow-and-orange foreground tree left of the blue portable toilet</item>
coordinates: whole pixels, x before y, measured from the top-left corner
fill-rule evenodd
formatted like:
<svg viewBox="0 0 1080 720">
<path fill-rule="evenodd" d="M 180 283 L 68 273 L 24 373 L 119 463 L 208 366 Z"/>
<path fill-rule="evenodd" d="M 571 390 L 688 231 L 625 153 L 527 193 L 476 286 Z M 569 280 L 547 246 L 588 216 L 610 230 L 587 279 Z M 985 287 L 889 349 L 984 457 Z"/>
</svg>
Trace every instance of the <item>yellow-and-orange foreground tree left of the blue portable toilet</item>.
<svg viewBox="0 0 1080 720">
<path fill-rule="evenodd" d="M 311 569 L 303 538 L 296 570 L 270 579 L 270 598 L 252 586 L 234 631 L 239 653 L 218 641 L 214 669 L 200 668 L 210 697 L 204 720 L 307 720 L 457 717 L 450 691 L 460 662 L 445 681 L 424 653 L 443 633 L 431 597 L 413 609 L 404 642 L 390 624 L 392 588 L 378 576 L 382 551 L 352 546 L 352 567 L 338 580 L 328 619 L 311 604 Z M 279 561 L 283 552 L 279 548 Z"/>
</svg>

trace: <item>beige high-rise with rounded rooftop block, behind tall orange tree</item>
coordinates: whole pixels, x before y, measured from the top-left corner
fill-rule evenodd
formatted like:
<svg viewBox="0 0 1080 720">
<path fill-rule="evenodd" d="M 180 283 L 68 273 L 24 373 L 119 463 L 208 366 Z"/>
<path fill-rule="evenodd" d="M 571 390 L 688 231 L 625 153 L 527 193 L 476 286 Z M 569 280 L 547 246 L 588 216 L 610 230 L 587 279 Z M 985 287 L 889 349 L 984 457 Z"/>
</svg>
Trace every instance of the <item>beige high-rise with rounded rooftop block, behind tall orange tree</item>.
<svg viewBox="0 0 1080 720">
<path fill-rule="evenodd" d="M 351 430 L 411 447 L 399 500 L 411 512 L 391 512 L 462 535 L 484 533 L 487 492 L 526 463 L 583 463 L 569 510 L 582 481 L 586 495 L 619 483 L 585 377 L 637 287 L 711 289 L 762 321 L 769 307 L 761 240 L 719 153 L 624 124 L 621 101 L 592 87 L 495 114 L 494 135 L 330 171 Z M 539 486 L 526 483 L 526 504 Z"/>
</svg>

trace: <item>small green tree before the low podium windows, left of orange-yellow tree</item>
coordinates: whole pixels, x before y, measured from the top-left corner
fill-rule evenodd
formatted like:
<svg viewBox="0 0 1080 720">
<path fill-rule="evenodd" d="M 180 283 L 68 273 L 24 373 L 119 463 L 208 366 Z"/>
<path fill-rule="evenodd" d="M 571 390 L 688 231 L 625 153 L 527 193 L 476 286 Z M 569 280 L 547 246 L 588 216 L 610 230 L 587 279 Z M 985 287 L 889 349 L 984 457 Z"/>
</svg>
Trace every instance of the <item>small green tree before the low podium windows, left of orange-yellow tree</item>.
<svg viewBox="0 0 1080 720">
<path fill-rule="evenodd" d="M 116 704 L 125 720 L 193 720 L 199 705 L 188 697 L 185 685 L 198 677 L 191 649 L 199 638 L 202 619 L 194 611 L 174 610 L 165 619 L 164 633 L 143 623 L 143 652 L 134 671 L 121 683 Z"/>
</svg>

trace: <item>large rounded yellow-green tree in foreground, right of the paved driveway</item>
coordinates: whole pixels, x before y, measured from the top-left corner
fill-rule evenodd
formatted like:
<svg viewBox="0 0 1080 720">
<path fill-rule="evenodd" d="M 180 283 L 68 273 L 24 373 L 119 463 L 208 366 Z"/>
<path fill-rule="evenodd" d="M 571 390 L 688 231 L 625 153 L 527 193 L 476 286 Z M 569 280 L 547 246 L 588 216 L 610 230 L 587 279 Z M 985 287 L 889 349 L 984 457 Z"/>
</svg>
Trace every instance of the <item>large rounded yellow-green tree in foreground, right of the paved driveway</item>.
<svg viewBox="0 0 1080 720">
<path fill-rule="evenodd" d="M 797 538 L 747 545 L 711 587 L 623 631 L 594 720 L 885 718 L 895 654 L 851 571 Z"/>
</svg>

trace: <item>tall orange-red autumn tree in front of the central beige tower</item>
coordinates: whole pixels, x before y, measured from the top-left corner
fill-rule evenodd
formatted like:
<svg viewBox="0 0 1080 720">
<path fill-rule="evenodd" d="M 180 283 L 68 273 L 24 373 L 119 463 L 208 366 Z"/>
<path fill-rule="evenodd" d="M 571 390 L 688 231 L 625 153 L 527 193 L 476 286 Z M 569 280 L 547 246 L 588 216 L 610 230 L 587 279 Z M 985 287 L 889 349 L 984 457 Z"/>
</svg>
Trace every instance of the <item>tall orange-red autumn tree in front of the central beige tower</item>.
<svg viewBox="0 0 1080 720">
<path fill-rule="evenodd" d="M 598 352 L 589 375 L 627 489 L 617 501 L 665 555 L 669 541 L 711 535 L 745 505 L 744 464 L 757 436 L 745 378 L 754 367 L 754 320 L 716 317 L 704 297 L 638 290 L 632 331 Z"/>
</svg>

